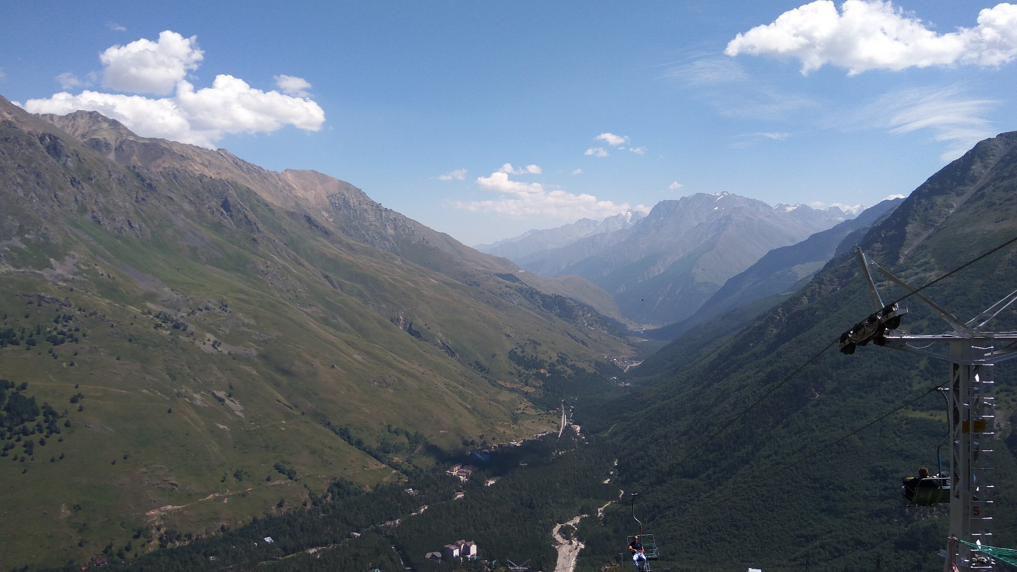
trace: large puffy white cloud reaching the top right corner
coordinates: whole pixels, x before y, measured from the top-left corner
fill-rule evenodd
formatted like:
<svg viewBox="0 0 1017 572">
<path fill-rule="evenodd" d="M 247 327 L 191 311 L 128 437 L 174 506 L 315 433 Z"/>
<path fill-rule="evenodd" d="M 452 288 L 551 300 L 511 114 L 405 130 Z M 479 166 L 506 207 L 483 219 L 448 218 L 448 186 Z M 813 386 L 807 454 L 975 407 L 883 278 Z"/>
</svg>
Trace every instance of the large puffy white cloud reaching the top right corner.
<svg viewBox="0 0 1017 572">
<path fill-rule="evenodd" d="M 826 64 L 850 75 L 931 65 L 995 66 L 1017 58 L 1017 4 L 978 12 L 978 25 L 937 34 L 889 1 L 817 0 L 738 34 L 724 53 L 794 58 L 806 74 Z"/>
</svg>

